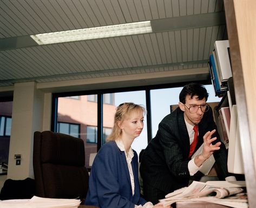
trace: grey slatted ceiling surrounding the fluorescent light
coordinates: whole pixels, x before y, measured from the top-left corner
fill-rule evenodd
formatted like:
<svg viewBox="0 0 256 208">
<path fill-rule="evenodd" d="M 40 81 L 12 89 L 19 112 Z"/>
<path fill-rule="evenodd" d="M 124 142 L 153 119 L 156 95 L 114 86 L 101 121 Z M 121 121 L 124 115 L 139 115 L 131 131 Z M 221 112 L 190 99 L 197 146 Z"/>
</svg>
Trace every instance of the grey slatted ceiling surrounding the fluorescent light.
<svg viewBox="0 0 256 208">
<path fill-rule="evenodd" d="M 152 33 L 40 46 L 29 36 L 145 20 Z M 0 0 L 0 38 L 4 87 L 163 72 L 187 81 L 191 69 L 208 76 L 214 41 L 227 32 L 220 0 Z"/>
</svg>

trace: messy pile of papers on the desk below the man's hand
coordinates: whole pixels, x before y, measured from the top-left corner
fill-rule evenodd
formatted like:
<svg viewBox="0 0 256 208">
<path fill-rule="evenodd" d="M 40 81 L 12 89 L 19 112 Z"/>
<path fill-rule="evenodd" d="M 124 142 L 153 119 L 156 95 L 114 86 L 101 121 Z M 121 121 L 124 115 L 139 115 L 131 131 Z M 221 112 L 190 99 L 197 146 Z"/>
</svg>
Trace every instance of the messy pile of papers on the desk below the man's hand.
<svg viewBox="0 0 256 208">
<path fill-rule="evenodd" d="M 209 202 L 234 208 L 248 208 L 245 181 L 193 181 L 188 187 L 176 190 L 160 199 L 164 206 L 177 202 Z"/>
</svg>

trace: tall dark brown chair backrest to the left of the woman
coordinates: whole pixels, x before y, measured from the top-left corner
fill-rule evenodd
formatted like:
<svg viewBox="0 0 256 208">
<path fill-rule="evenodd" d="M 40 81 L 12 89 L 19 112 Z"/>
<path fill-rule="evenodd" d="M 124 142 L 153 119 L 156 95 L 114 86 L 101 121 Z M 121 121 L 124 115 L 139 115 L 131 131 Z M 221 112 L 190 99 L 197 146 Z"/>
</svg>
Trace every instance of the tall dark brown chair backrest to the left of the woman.
<svg viewBox="0 0 256 208">
<path fill-rule="evenodd" d="M 84 164 L 84 143 L 81 138 L 51 131 L 34 133 L 36 196 L 83 199 L 89 181 Z"/>
</svg>

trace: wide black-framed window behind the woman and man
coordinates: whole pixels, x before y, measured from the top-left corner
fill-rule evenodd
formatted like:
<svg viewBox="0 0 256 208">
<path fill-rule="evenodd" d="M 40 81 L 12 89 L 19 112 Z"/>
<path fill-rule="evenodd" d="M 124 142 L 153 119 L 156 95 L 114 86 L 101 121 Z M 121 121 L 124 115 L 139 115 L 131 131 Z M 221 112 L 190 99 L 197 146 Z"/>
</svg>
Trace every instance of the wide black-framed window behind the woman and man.
<svg viewBox="0 0 256 208">
<path fill-rule="evenodd" d="M 208 102 L 218 102 L 220 98 L 215 97 L 213 86 L 205 86 L 209 93 Z M 113 128 L 116 107 L 120 103 L 134 102 L 147 108 L 142 133 L 132 144 L 132 148 L 139 154 L 147 147 L 148 141 L 155 136 L 158 124 L 163 117 L 170 113 L 170 105 L 178 104 L 181 89 L 182 87 L 177 84 L 102 89 L 81 92 L 79 101 L 64 99 L 63 95 L 72 96 L 72 93 L 54 94 L 56 99 L 53 100 L 57 100 L 57 119 L 53 121 L 57 120 L 61 123 L 58 124 L 58 129 L 63 133 L 78 135 L 76 137 L 82 138 L 86 149 L 86 167 L 90 168 L 90 155 L 95 154 L 106 143 L 106 138 Z M 215 100 L 211 100 L 212 98 Z M 78 123 L 79 126 L 72 126 Z"/>
</svg>

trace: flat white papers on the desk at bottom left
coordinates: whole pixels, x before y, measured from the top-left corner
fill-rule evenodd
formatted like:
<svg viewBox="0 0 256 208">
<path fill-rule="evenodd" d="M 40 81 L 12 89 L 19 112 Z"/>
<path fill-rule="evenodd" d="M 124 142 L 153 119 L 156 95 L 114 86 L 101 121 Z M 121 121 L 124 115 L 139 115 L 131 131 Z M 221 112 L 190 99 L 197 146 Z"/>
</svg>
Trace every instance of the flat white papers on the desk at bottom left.
<svg viewBox="0 0 256 208">
<path fill-rule="evenodd" d="M 31 199 L 10 199 L 0 201 L 0 208 L 77 208 L 80 199 L 56 199 L 32 197 Z"/>
</svg>

